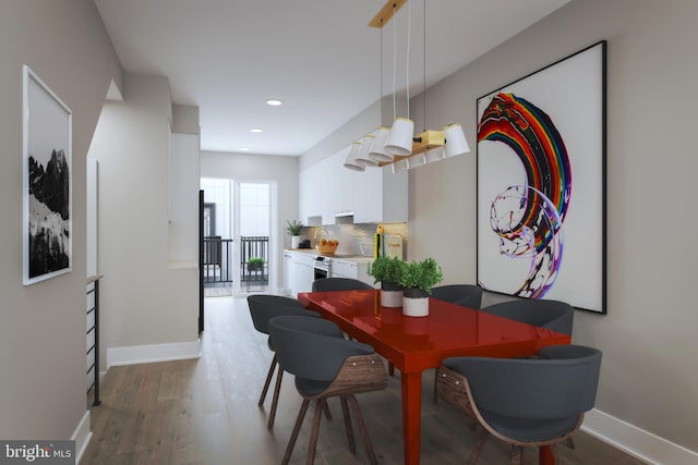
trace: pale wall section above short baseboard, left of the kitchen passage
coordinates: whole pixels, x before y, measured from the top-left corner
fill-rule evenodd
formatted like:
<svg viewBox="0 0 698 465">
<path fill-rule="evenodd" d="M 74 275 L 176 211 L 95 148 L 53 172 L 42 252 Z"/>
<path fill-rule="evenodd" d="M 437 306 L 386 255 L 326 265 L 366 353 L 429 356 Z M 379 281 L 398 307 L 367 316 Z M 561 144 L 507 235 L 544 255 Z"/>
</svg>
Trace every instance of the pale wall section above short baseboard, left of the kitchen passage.
<svg viewBox="0 0 698 465">
<path fill-rule="evenodd" d="M 172 268 L 172 260 L 189 260 L 192 253 L 180 244 L 173 257 L 168 241 L 169 220 L 182 217 L 170 213 L 168 198 L 169 84 L 166 77 L 129 74 L 123 94 L 123 101 L 105 105 L 91 147 L 100 173 L 105 368 L 110 351 L 191 343 L 198 335 L 197 269 L 195 264 Z M 181 188 L 191 189 L 197 198 L 197 183 Z"/>
</svg>

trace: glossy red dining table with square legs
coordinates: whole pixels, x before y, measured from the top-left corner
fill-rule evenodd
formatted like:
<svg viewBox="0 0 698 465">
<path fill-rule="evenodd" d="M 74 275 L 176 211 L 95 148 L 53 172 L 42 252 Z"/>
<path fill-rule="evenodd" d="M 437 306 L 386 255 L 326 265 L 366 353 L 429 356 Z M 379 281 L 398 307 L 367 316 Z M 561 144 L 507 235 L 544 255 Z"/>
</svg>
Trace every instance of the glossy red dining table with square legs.
<svg viewBox="0 0 698 465">
<path fill-rule="evenodd" d="M 401 308 L 381 306 L 377 290 L 308 292 L 298 298 L 352 338 L 373 346 L 400 370 L 408 465 L 420 461 L 422 371 L 441 366 L 446 357 L 519 357 L 546 345 L 570 343 L 567 334 L 436 298 L 430 298 L 426 317 L 406 317 Z M 553 463 L 550 448 L 541 446 L 540 464 Z"/>
</svg>

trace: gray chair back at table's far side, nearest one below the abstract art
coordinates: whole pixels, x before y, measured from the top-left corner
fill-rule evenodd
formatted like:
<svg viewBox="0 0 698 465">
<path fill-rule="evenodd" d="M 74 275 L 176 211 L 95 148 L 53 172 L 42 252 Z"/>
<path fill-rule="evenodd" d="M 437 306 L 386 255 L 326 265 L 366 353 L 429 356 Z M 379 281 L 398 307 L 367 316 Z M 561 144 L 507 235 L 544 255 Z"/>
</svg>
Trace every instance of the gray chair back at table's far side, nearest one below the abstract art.
<svg viewBox="0 0 698 465">
<path fill-rule="evenodd" d="M 535 298 L 503 302 L 484 307 L 482 311 L 565 334 L 571 334 L 575 319 L 571 305 Z"/>
</svg>

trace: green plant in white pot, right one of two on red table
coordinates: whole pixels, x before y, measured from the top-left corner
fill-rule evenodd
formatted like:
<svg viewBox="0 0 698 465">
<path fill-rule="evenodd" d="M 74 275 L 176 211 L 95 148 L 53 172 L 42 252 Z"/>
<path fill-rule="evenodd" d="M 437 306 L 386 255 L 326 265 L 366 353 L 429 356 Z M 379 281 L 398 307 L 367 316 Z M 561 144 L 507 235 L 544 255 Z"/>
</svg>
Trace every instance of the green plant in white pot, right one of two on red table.
<svg viewBox="0 0 698 465">
<path fill-rule="evenodd" d="M 429 315 L 429 296 L 432 287 L 444 279 L 436 260 L 429 257 L 423 261 L 410 261 L 400 274 L 402 291 L 402 314 L 410 317 Z"/>
</svg>

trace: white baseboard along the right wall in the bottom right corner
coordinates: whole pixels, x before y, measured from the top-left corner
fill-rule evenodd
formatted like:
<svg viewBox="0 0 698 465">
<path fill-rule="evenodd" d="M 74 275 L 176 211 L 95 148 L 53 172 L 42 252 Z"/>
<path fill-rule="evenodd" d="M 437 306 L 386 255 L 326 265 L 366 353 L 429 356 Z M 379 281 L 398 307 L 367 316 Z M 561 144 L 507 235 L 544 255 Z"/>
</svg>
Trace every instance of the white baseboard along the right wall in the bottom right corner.
<svg viewBox="0 0 698 465">
<path fill-rule="evenodd" d="M 650 464 L 698 464 L 698 452 L 674 444 L 595 408 L 587 412 L 581 429 L 614 448 Z"/>
</svg>

